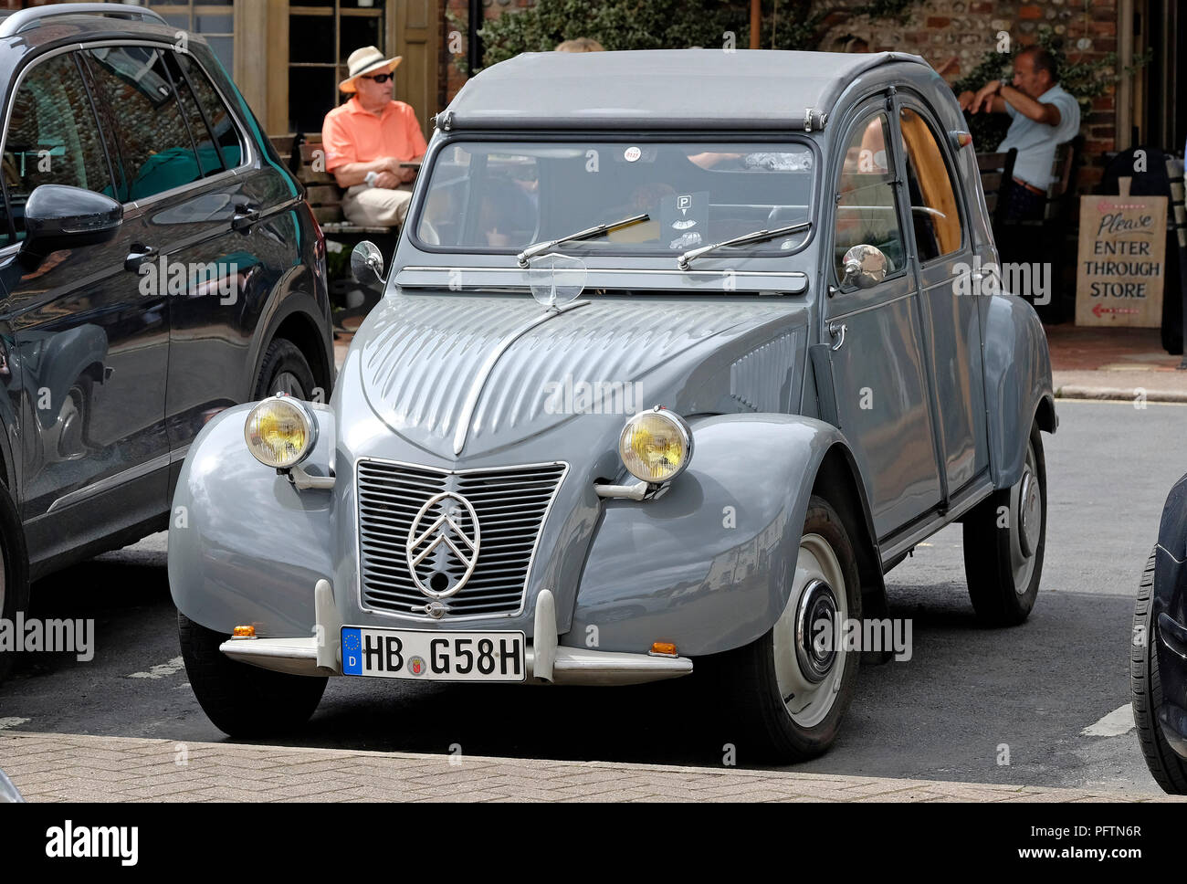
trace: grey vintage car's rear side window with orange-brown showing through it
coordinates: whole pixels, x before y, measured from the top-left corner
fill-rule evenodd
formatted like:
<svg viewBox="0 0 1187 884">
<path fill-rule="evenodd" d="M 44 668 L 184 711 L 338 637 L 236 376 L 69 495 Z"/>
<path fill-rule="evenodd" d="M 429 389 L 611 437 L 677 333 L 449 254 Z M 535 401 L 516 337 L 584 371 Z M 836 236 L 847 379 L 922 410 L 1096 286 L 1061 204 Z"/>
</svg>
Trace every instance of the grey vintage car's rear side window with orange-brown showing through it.
<svg viewBox="0 0 1187 884">
<path fill-rule="evenodd" d="M 899 114 L 907 163 L 907 192 L 915 247 L 922 262 L 960 248 L 960 211 L 940 145 L 927 121 L 902 108 Z"/>
</svg>

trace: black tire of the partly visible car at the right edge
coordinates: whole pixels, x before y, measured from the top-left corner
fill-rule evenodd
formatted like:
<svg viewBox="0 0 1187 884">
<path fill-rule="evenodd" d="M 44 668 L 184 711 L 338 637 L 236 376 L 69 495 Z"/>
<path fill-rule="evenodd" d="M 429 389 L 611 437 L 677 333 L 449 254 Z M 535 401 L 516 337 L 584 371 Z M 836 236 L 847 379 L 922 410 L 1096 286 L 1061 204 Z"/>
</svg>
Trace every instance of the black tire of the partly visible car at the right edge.
<svg viewBox="0 0 1187 884">
<path fill-rule="evenodd" d="M 1134 606 L 1134 641 L 1129 655 L 1134 724 L 1137 725 L 1137 742 L 1155 782 L 1169 795 L 1187 795 L 1187 761 L 1170 748 L 1159 725 L 1162 680 L 1159 676 L 1159 638 L 1150 604 L 1154 594 L 1154 560 L 1155 553 L 1150 553 Z"/>
</svg>

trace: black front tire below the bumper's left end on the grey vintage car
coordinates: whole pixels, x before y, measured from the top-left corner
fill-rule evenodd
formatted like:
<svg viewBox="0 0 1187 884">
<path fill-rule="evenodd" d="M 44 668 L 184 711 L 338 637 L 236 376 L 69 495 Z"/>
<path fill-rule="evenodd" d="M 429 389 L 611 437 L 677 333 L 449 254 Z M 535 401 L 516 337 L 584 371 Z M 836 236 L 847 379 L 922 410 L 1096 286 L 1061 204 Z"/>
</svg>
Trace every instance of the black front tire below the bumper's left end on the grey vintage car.
<svg viewBox="0 0 1187 884">
<path fill-rule="evenodd" d="M 177 631 L 185 674 L 207 717 L 231 737 L 291 732 L 317 708 L 329 679 L 288 675 L 231 660 L 218 645 L 229 636 L 202 627 L 180 611 Z"/>
</svg>

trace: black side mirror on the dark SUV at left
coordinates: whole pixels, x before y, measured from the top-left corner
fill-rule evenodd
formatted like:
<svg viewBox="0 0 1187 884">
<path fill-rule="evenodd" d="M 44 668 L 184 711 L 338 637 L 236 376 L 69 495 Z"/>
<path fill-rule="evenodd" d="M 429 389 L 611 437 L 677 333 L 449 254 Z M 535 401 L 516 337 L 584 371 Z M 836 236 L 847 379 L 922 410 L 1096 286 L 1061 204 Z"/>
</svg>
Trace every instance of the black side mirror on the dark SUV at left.
<svg viewBox="0 0 1187 884">
<path fill-rule="evenodd" d="M 20 262 L 33 268 L 58 249 L 108 242 L 122 223 L 123 206 L 110 197 L 65 184 L 43 184 L 25 201 Z"/>
</svg>

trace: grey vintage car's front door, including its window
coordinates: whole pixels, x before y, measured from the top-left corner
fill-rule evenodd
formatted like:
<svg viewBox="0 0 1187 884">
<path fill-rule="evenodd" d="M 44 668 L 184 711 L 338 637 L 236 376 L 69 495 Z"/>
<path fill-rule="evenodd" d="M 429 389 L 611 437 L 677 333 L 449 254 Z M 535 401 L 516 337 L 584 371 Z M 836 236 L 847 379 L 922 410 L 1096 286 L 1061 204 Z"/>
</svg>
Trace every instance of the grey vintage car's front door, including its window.
<svg viewBox="0 0 1187 884">
<path fill-rule="evenodd" d="M 931 390 L 919 288 L 902 230 L 901 189 L 886 100 L 848 117 L 833 168 L 832 279 L 823 316 L 831 337 L 837 422 L 865 482 L 882 540 L 940 502 Z M 853 246 L 877 248 L 884 279 L 861 288 L 844 280 Z"/>
</svg>

